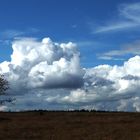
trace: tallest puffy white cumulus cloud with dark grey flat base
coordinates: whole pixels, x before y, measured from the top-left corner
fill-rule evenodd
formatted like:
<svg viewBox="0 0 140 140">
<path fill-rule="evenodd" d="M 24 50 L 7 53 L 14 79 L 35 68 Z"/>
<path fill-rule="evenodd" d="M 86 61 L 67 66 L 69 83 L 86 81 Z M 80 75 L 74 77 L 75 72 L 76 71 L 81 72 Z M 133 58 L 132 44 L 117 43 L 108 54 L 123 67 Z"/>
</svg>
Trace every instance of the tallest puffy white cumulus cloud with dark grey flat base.
<svg viewBox="0 0 140 140">
<path fill-rule="evenodd" d="M 77 88 L 83 85 L 84 70 L 76 45 L 19 38 L 12 44 L 11 62 L 0 64 L 13 89 Z M 19 86 L 17 86 L 19 85 Z"/>
</svg>

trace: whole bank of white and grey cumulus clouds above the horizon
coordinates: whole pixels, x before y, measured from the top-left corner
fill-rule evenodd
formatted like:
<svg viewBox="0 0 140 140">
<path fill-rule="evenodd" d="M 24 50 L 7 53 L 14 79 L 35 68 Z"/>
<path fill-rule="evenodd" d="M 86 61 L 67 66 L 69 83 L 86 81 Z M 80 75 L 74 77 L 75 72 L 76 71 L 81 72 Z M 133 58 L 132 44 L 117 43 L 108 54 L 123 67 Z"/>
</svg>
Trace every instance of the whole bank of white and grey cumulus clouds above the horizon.
<svg viewBox="0 0 140 140">
<path fill-rule="evenodd" d="M 140 56 L 122 66 L 81 68 L 76 44 L 18 38 L 0 64 L 17 99 L 9 109 L 140 110 Z M 6 108 L 6 109 L 7 109 Z"/>
</svg>

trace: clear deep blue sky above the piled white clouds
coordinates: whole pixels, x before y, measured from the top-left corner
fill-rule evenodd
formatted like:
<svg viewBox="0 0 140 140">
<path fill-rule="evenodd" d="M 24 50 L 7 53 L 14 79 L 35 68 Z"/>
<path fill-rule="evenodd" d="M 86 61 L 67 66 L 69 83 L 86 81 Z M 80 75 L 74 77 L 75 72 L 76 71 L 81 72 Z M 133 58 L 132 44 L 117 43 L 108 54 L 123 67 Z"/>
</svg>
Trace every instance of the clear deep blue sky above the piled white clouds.
<svg viewBox="0 0 140 140">
<path fill-rule="evenodd" d="M 9 60 L 15 37 L 51 37 L 78 44 L 81 65 L 122 64 L 133 54 L 108 56 L 139 40 L 138 0 L 1 0 L 0 61 Z M 125 13 L 125 9 L 129 8 Z M 128 17 L 130 16 L 132 17 Z M 133 18 L 134 17 L 134 18 Z M 104 55 L 103 55 L 104 54 Z"/>
</svg>

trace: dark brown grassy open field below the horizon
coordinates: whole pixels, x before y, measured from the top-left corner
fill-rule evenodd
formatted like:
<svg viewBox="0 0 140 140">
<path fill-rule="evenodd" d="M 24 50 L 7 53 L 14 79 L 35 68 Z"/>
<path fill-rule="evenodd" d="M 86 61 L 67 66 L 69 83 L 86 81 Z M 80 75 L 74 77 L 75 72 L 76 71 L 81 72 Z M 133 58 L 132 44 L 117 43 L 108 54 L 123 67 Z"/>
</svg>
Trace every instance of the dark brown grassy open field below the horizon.
<svg viewBox="0 0 140 140">
<path fill-rule="evenodd" d="M 140 140 L 140 113 L 0 113 L 0 140 Z"/>
</svg>

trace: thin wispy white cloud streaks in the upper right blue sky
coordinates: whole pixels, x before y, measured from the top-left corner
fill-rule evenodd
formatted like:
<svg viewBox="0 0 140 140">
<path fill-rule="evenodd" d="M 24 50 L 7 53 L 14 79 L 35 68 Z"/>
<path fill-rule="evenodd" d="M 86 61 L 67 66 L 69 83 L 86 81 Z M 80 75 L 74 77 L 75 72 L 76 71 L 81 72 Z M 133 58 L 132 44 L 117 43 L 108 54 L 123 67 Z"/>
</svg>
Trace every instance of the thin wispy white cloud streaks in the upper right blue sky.
<svg viewBox="0 0 140 140">
<path fill-rule="evenodd" d="M 140 26 L 140 2 L 121 4 L 118 7 L 118 19 L 109 19 L 104 25 L 98 26 L 93 33 L 103 33 L 131 29 Z"/>
</svg>

